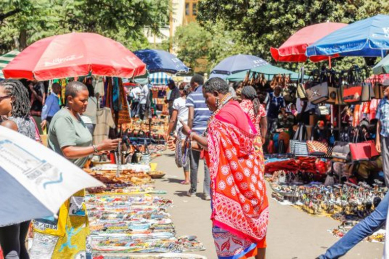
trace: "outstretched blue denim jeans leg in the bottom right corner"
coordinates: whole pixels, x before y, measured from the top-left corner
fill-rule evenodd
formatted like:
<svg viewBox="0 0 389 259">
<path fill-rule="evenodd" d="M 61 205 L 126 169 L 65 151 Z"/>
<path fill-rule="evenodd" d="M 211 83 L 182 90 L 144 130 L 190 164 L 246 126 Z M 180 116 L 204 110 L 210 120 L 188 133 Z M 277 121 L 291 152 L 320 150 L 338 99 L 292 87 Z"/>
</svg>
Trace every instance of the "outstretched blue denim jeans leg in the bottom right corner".
<svg viewBox="0 0 389 259">
<path fill-rule="evenodd" d="M 347 232 L 338 242 L 327 249 L 325 254 L 320 255 L 319 259 L 335 259 L 343 256 L 361 242 L 364 238 L 370 236 L 385 225 L 387 208 L 389 205 L 389 192 L 386 193 L 377 208 L 368 215 L 363 221 Z"/>
</svg>

